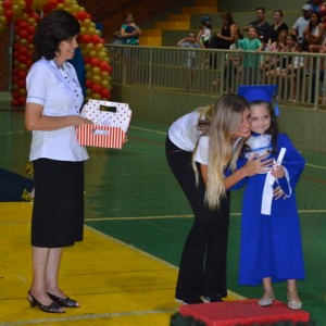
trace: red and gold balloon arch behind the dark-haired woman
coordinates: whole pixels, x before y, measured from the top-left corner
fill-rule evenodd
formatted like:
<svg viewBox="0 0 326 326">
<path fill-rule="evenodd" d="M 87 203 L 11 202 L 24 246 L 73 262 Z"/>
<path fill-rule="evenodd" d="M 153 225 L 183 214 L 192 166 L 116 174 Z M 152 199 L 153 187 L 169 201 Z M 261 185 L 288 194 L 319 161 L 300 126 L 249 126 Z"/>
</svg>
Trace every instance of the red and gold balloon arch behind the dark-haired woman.
<svg viewBox="0 0 326 326">
<path fill-rule="evenodd" d="M 32 65 L 33 37 L 40 21 L 40 12 L 47 14 L 62 9 L 71 12 L 79 21 L 82 29 L 78 38 L 85 63 L 86 99 L 110 98 L 111 65 L 101 32 L 96 28 L 83 7 L 76 0 L 0 0 L 0 34 L 13 24 L 13 68 L 12 105 L 26 103 L 26 76 Z"/>
</svg>

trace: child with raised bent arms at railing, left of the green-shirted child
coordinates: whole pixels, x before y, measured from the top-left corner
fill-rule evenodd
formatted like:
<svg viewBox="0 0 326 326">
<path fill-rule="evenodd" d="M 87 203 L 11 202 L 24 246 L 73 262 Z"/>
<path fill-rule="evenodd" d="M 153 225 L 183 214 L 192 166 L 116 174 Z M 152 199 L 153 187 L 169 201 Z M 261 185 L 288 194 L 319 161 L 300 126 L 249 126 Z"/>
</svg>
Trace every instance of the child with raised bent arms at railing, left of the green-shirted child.
<svg viewBox="0 0 326 326">
<path fill-rule="evenodd" d="M 187 37 L 184 37 L 177 42 L 178 47 L 181 48 L 192 48 L 192 49 L 200 49 L 204 48 L 202 42 L 200 42 L 196 38 L 196 34 L 190 32 Z M 193 90 L 193 73 L 195 73 L 195 59 L 196 59 L 196 51 L 187 51 L 185 58 L 185 67 L 187 68 L 187 90 Z"/>
</svg>

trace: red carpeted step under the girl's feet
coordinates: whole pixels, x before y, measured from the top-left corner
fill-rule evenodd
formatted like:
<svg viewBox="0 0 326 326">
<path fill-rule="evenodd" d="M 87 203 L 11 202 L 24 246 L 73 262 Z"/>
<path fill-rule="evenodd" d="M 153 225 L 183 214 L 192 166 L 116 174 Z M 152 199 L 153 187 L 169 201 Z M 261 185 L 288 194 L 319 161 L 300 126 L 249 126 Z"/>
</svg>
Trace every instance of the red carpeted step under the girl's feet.
<svg viewBox="0 0 326 326">
<path fill-rule="evenodd" d="M 310 314 L 290 310 L 287 303 L 274 301 L 269 306 L 259 306 L 256 299 L 181 305 L 179 314 L 193 317 L 206 326 L 268 325 L 277 322 L 308 323 Z"/>
</svg>

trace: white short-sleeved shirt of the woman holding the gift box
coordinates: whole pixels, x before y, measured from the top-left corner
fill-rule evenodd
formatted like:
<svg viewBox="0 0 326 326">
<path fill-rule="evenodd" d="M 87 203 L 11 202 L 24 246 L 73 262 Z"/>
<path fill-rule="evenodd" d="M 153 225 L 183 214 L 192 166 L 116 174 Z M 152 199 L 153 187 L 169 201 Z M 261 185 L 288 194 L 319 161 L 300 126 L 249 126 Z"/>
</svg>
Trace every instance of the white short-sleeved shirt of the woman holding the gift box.
<svg viewBox="0 0 326 326">
<path fill-rule="evenodd" d="M 72 64 L 65 62 L 60 68 L 53 60 L 41 59 L 30 67 L 26 87 L 26 102 L 43 105 L 42 115 L 79 115 L 83 90 Z M 40 158 L 75 162 L 89 156 L 77 141 L 75 126 L 70 126 L 58 130 L 33 130 L 29 160 Z"/>
</svg>

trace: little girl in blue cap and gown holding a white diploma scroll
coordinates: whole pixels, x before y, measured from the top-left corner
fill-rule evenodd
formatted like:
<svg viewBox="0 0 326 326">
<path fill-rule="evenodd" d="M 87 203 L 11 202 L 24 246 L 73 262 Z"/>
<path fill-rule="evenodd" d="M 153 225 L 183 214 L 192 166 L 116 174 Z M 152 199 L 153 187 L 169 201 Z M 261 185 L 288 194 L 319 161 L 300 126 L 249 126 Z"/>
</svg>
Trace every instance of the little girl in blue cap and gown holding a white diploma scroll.
<svg viewBox="0 0 326 326">
<path fill-rule="evenodd" d="M 269 152 L 283 162 L 265 174 L 248 178 L 241 221 L 240 285 L 261 283 L 258 304 L 273 303 L 273 281 L 287 280 L 288 308 L 301 309 L 297 279 L 304 278 L 300 223 L 294 188 L 305 161 L 285 134 L 278 133 L 272 99 L 277 86 L 240 86 L 238 93 L 250 104 L 252 136 L 246 156 Z M 274 181 L 274 183 L 273 183 Z"/>
</svg>

